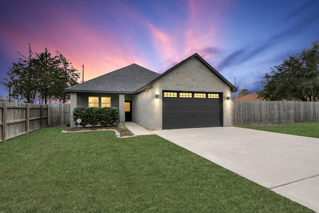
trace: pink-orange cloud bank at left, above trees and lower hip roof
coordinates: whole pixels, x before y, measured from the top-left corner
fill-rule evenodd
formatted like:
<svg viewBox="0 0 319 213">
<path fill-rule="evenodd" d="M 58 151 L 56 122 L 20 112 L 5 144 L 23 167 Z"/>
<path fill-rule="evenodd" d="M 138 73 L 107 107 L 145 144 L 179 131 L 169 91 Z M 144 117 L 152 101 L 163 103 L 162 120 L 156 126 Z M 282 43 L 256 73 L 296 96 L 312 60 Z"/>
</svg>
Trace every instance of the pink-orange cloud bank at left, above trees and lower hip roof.
<svg viewBox="0 0 319 213">
<path fill-rule="evenodd" d="M 45 7 L 41 9 L 46 10 Z M 22 29 L 21 33 L 21 28 L 18 26 L 6 25 L 4 35 L 5 40 L 8 41 L 6 51 L 11 52 L 12 56 L 16 58 L 18 54 L 15 51 L 27 55 L 28 43 L 33 52 L 41 52 L 44 47 L 47 47 L 51 54 L 55 54 L 55 51 L 58 50 L 72 62 L 79 72 L 82 73 L 81 65 L 85 65 L 85 80 L 132 63 L 147 65 L 138 57 L 130 40 L 119 38 L 112 30 L 96 30 L 84 24 L 83 19 L 79 16 L 70 18 L 62 12 L 54 11 L 54 13 L 54 20 L 44 20 L 42 23 L 45 24 L 45 30 L 37 30 L 41 26 L 33 25 L 29 29 Z M 47 15 L 53 16 L 53 14 Z"/>
</svg>

